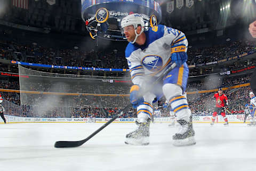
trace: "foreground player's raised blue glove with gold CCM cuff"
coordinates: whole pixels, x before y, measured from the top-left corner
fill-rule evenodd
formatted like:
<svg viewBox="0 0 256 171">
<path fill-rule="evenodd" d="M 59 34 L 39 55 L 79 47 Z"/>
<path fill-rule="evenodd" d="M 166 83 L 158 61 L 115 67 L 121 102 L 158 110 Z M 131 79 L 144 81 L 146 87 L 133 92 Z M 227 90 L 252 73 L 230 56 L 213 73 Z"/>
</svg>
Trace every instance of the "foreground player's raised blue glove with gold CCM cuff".
<svg viewBox="0 0 256 171">
<path fill-rule="evenodd" d="M 171 53 L 172 53 L 172 56 L 171 56 L 172 62 L 175 62 L 177 64 L 177 67 L 182 66 L 182 64 L 184 62 L 187 62 L 188 60 L 185 44 L 172 46 Z"/>
</svg>

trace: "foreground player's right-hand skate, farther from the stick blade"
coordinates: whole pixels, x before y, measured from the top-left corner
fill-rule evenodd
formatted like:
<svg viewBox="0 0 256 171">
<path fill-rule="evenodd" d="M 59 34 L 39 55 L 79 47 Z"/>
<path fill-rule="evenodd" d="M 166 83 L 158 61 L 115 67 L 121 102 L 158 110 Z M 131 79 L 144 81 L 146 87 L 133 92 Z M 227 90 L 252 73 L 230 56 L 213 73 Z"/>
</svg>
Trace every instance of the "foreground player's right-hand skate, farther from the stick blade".
<svg viewBox="0 0 256 171">
<path fill-rule="evenodd" d="M 186 120 L 177 120 L 180 124 L 179 132 L 173 135 L 172 139 L 174 140 L 174 146 L 187 146 L 196 144 L 195 141 L 195 131 L 193 129 L 192 117 L 190 116 L 190 121 Z"/>
</svg>

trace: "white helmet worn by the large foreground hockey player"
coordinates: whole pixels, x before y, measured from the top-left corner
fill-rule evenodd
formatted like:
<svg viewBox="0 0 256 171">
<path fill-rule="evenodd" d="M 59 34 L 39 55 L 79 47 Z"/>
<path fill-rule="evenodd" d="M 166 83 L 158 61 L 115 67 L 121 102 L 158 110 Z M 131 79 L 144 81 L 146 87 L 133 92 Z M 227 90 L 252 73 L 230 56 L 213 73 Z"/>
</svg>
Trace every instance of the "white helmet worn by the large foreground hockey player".
<svg viewBox="0 0 256 171">
<path fill-rule="evenodd" d="M 127 27 L 127 26 L 133 26 L 134 29 L 135 29 L 135 38 L 133 40 L 133 42 L 131 43 L 134 43 L 137 39 L 138 36 L 140 36 L 142 34 L 142 32 L 144 31 L 144 28 L 145 28 L 145 22 L 144 20 L 141 18 L 141 15 L 140 14 L 130 14 L 130 15 L 127 15 L 125 18 L 122 19 L 121 21 L 121 27 L 122 29 L 124 27 Z M 141 31 L 139 34 L 137 34 L 137 28 L 138 26 L 141 26 Z"/>
</svg>

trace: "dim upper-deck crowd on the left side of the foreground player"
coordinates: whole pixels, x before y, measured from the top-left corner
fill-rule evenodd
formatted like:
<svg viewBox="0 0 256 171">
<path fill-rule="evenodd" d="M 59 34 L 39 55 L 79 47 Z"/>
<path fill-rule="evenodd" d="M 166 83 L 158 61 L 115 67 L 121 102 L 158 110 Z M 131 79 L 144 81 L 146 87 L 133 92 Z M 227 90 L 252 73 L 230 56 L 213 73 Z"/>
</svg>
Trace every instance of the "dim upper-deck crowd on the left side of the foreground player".
<svg viewBox="0 0 256 171">
<path fill-rule="evenodd" d="M 26 45 L 0 42 L 1 59 L 58 66 L 126 69 L 127 61 L 123 53 L 114 49 L 85 52 L 78 47 L 62 50 L 42 47 L 35 42 Z"/>
</svg>

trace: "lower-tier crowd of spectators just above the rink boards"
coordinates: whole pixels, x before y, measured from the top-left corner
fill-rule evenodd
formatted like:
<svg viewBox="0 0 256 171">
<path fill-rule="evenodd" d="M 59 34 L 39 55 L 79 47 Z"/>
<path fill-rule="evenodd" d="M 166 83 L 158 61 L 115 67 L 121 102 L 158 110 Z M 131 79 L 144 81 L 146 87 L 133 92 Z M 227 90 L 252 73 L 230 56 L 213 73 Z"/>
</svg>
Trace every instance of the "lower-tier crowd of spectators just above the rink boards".
<svg viewBox="0 0 256 171">
<path fill-rule="evenodd" d="M 248 83 L 251 74 L 242 75 L 240 77 L 226 77 L 222 82 L 222 87 L 229 87 L 234 85 L 241 85 Z M 1 82 L 0 82 L 1 83 Z M 4 85 L 4 89 L 8 88 L 8 85 L 12 86 L 13 83 L 3 82 L 0 85 Z M 204 87 L 203 82 L 190 82 L 191 87 Z M 35 88 L 34 86 L 32 86 Z M 121 88 L 119 86 L 118 88 Z M 90 87 L 92 91 L 93 87 Z M 102 88 L 106 86 L 102 85 Z M 116 87 L 115 87 L 116 88 Z M 97 87 L 94 87 L 94 91 L 91 94 L 80 95 L 58 95 L 58 94 L 28 94 L 28 93 L 15 93 L 15 92 L 1 92 L 5 101 L 4 105 L 10 108 L 7 111 L 14 113 L 13 115 L 23 117 L 112 117 L 119 113 L 128 103 L 129 95 L 122 95 L 114 93 L 113 95 L 97 95 Z M 210 86 L 209 89 L 218 88 L 217 86 Z M 123 87 L 121 90 L 129 90 L 129 87 Z M 193 89 L 193 88 L 192 88 Z M 102 89 L 103 90 L 103 89 Z M 37 91 L 37 89 L 34 89 Z M 228 88 L 224 93 L 230 100 L 229 110 L 232 113 L 242 113 L 244 111 L 244 104 L 249 102 L 249 92 L 251 91 L 249 86 L 243 86 L 238 88 Z M 189 91 L 188 91 L 189 92 Z M 193 115 L 212 115 L 215 100 L 213 93 L 188 93 L 188 102 Z M 115 95 L 116 94 L 116 95 Z M 129 94 L 129 93 L 125 93 Z M 157 110 L 160 110 L 163 116 L 169 116 L 169 112 L 163 108 L 164 99 L 154 104 Z M 125 113 L 124 117 L 136 117 L 135 109 L 130 109 Z"/>
</svg>

